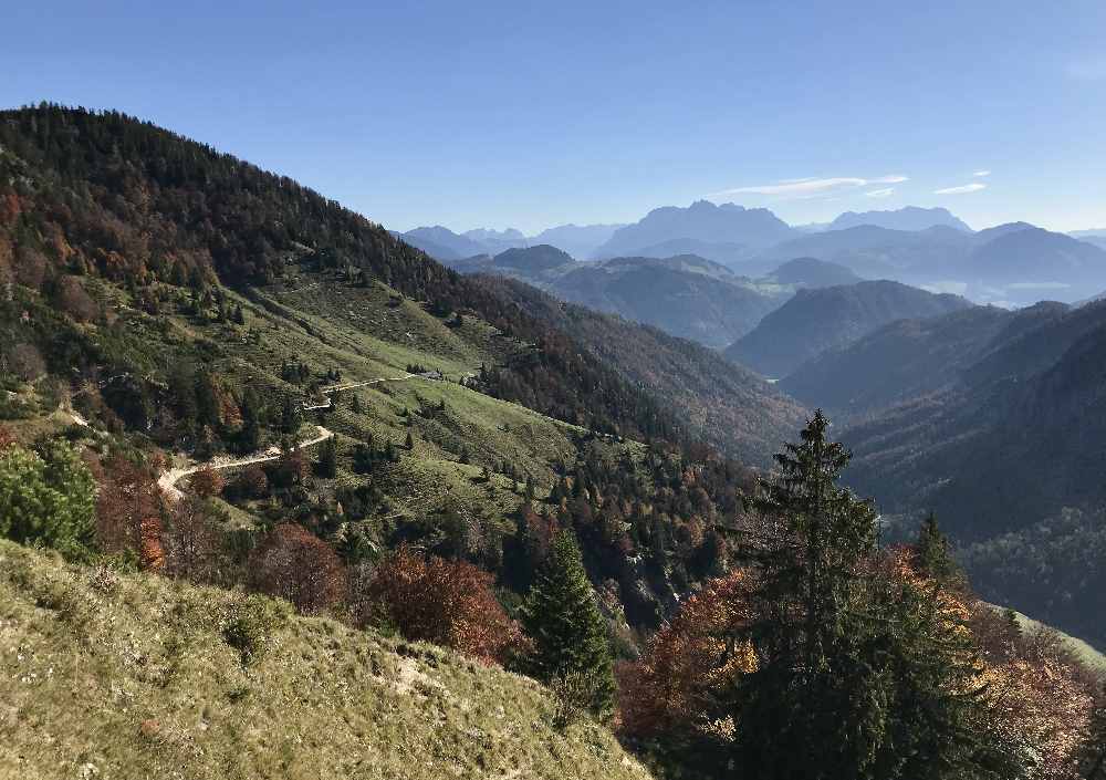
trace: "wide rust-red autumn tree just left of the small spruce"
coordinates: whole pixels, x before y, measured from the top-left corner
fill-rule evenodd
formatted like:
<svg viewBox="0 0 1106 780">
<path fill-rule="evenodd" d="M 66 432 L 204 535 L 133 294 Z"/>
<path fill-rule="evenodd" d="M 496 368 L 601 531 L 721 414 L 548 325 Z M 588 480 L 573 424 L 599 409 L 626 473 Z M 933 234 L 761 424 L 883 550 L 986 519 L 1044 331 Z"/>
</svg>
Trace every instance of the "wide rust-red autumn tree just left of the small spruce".
<svg viewBox="0 0 1106 780">
<path fill-rule="evenodd" d="M 465 561 L 425 558 L 399 548 L 376 570 L 358 605 L 362 620 L 384 618 L 411 642 L 432 642 L 502 662 L 519 642 L 518 624 L 495 601 L 491 574 Z"/>
</svg>

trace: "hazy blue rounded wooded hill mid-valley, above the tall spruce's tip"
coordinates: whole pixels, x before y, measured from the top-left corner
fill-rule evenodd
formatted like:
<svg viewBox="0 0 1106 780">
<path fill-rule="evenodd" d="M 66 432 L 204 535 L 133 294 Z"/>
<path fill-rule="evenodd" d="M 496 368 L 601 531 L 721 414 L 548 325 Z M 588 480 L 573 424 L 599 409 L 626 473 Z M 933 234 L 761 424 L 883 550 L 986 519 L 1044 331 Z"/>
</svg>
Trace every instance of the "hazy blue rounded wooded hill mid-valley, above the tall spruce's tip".
<svg viewBox="0 0 1106 780">
<path fill-rule="evenodd" d="M 898 282 L 801 289 L 726 350 L 726 356 L 765 376 L 786 376 L 826 350 L 839 349 L 895 320 L 945 314 L 970 306 L 957 295 Z"/>
</svg>

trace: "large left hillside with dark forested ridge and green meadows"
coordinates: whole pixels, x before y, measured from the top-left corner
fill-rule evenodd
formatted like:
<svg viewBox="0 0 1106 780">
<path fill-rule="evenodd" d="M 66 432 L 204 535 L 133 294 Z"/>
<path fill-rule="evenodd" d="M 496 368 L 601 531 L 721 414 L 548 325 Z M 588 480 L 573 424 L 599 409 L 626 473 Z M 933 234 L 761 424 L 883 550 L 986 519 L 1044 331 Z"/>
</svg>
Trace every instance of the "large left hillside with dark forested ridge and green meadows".
<svg viewBox="0 0 1106 780">
<path fill-rule="evenodd" d="M 574 526 L 634 626 L 722 565 L 710 529 L 748 471 L 692 446 L 686 418 L 572 335 L 336 204 L 152 125 L 54 107 L 3 118 L 4 416 L 18 439 L 73 409 L 146 471 L 161 453 L 284 447 L 223 474 L 233 524 L 255 529 L 236 565 L 291 516 L 354 560 L 418 543 L 523 592 L 528 534 Z M 312 465 L 286 450 L 316 424 L 335 436 Z"/>
</svg>

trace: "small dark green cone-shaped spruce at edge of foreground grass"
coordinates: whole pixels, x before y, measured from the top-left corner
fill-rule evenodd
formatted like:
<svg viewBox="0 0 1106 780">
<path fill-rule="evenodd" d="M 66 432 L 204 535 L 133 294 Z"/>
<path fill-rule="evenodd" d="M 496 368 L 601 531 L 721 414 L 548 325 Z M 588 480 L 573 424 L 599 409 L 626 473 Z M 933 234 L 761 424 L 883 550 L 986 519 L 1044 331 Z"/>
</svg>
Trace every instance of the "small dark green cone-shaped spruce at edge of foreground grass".
<svg viewBox="0 0 1106 780">
<path fill-rule="evenodd" d="M 571 531 L 554 538 L 526 597 L 522 625 L 534 643 L 528 672 L 547 685 L 582 683 L 580 704 L 597 718 L 608 717 L 615 693 L 611 646 Z"/>
</svg>

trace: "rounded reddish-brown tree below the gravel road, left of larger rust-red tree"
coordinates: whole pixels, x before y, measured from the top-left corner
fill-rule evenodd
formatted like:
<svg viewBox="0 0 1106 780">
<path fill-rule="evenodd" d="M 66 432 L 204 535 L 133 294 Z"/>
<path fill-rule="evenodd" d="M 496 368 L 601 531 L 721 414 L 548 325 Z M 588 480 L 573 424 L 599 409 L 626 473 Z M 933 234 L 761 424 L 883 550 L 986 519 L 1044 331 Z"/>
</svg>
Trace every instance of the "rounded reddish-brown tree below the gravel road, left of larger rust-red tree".
<svg viewBox="0 0 1106 780">
<path fill-rule="evenodd" d="M 331 545 L 303 526 L 281 523 L 250 554 L 252 585 L 312 614 L 337 603 L 346 587 L 345 570 Z"/>
</svg>

